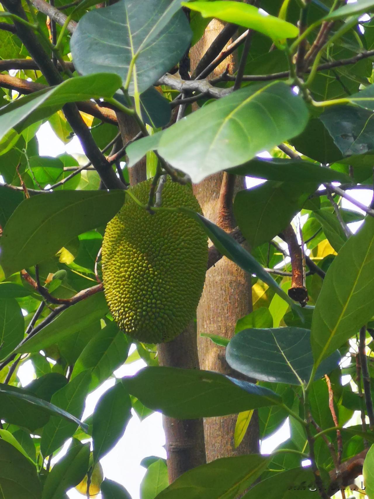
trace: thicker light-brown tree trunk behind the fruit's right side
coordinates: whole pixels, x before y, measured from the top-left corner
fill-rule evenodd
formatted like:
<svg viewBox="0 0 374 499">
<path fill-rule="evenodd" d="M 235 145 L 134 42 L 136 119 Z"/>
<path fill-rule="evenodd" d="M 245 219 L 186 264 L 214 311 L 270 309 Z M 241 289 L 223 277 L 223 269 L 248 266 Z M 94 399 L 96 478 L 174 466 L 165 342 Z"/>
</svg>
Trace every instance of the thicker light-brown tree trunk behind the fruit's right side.
<svg viewBox="0 0 374 499">
<path fill-rule="evenodd" d="M 203 38 L 192 47 L 191 69 L 195 68 L 217 34 L 223 23 L 212 20 Z M 228 41 L 230 43 L 230 40 Z M 210 75 L 212 78 L 222 73 L 226 67 L 232 69 L 232 56 L 224 60 Z M 222 186 L 222 180 L 224 185 Z M 222 187 L 222 189 L 221 189 Z M 235 228 L 230 211 L 230 197 L 244 188 L 243 178 L 233 183 L 227 174 L 218 173 L 194 186 L 194 193 L 203 214 L 225 231 Z M 201 369 L 233 374 L 225 361 L 224 349 L 212 343 L 200 333 L 220 334 L 231 338 L 236 321 L 252 310 L 250 275 L 241 270 L 226 257 L 206 272 L 204 290 L 197 308 L 197 347 Z M 236 373 L 237 374 L 237 373 Z M 258 415 L 252 416 L 247 433 L 237 449 L 234 448 L 234 429 L 236 415 L 223 418 L 207 418 L 204 421 L 205 451 L 208 462 L 214 459 L 252 454 L 259 452 Z"/>
</svg>

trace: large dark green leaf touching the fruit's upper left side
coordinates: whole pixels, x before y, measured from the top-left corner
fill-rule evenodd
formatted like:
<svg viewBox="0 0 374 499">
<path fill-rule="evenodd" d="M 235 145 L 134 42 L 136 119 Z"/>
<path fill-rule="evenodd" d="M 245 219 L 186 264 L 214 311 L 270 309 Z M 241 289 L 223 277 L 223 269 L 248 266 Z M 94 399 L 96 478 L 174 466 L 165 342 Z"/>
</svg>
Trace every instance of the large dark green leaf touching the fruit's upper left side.
<svg viewBox="0 0 374 499">
<path fill-rule="evenodd" d="M 123 191 L 59 191 L 25 199 L 2 233 L 0 264 L 6 275 L 53 256 L 75 236 L 109 222 Z"/>
</svg>

